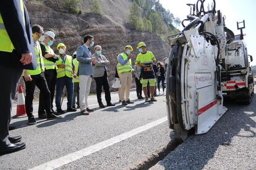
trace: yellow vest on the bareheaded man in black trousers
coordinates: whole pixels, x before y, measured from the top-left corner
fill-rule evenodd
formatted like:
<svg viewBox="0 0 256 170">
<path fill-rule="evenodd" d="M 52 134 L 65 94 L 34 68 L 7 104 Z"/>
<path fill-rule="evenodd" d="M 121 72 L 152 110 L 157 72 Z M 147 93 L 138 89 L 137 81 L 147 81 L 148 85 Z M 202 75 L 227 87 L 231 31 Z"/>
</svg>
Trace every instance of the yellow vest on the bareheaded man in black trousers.
<svg viewBox="0 0 256 170">
<path fill-rule="evenodd" d="M 37 47 L 39 48 L 39 49 L 37 49 L 36 46 L 35 46 L 35 54 L 36 54 L 36 60 L 37 60 L 37 68 L 36 68 L 36 70 L 27 70 L 27 71 L 28 71 L 28 74 L 29 74 L 30 76 L 39 75 L 39 74 L 41 74 L 41 72 L 45 71 L 45 66 L 44 66 L 44 63 L 43 63 L 43 55 L 42 55 L 42 51 L 41 51 L 40 44 L 39 44 L 38 41 L 36 41 L 35 44 L 36 44 Z"/>
</svg>

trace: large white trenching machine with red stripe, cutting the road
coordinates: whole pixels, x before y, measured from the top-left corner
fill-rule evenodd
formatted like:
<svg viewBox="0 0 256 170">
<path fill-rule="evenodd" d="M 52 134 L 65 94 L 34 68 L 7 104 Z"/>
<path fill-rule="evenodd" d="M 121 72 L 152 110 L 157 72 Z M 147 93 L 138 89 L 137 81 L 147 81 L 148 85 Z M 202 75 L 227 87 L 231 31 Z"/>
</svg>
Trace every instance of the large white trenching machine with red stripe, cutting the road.
<svg viewBox="0 0 256 170">
<path fill-rule="evenodd" d="M 208 132 L 227 111 L 223 106 L 224 83 L 226 81 L 231 84 L 230 81 L 238 76 L 235 73 L 232 75 L 234 70 L 231 69 L 231 63 L 235 56 L 229 55 L 229 50 L 233 43 L 244 44 L 241 39 L 236 40 L 234 33 L 224 25 L 220 10 L 215 10 L 215 0 L 211 7 L 208 5 L 207 11 L 207 4 L 203 0 L 187 5 L 190 6 L 190 15 L 184 21 L 190 23 L 185 26 L 182 21 L 184 30 L 168 37 L 171 52 L 166 73 L 168 123 L 182 140 L 190 132 Z M 245 54 L 245 49 L 241 48 L 245 46 L 239 48 L 239 55 L 247 57 L 247 52 Z M 247 65 L 241 68 L 249 73 Z M 241 73 L 246 74 L 241 68 Z M 221 74 L 225 71 L 231 77 L 224 81 L 224 75 Z M 236 79 L 236 82 L 239 83 L 241 79 Z M 245 83 L 247 81 L 250 82 L 249 79 L 244 79 Z M 242 89 L 242 86 L 238 86 L 238 89 L 234 87 L 236 90 Z"/>
</svg>

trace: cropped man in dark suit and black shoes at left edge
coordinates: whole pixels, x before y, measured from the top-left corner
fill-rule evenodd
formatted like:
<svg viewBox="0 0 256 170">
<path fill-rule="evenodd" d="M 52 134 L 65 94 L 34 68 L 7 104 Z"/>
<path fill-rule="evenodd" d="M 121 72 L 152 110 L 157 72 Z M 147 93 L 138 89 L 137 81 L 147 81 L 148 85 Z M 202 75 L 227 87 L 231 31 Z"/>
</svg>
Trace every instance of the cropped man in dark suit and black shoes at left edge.
<svg viewBox="0 0 256 170">
<path fill-rule="evenodd" d="M 25 148 L 21 137 L 9 136 L 12 99 L 23 68 L 35 70 L 36 57 L 28 12 L 22 0 L 2 1 L 0 6 L 0 155 Z M 33 57 L 34 56 L 34 57 Z M 16 144 L 15 144 L 16 143 Z"/>
</svg>

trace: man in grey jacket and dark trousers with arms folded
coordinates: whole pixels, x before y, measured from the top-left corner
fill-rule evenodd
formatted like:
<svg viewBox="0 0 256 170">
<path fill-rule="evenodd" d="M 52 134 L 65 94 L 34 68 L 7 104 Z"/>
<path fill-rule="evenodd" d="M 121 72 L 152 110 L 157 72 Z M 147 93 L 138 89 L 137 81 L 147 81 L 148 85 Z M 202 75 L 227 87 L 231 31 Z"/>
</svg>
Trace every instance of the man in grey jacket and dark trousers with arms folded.
<svg viewBox="0 0 256 170">
<path fill-rule="evenodd" d="M 101 46 L 95 46 L 95 54 L 92 55 L 92 58 L 96 59 L 93 62 L 93 78 L 96 82 L 96 94 L 99 107 L 105 108 L 105 105 L 103 105 L 101 100 L 102 86 L 105 92 L 107 106 L 114 106 L 114 104 L 111 103 L 108 75 L 106 70 L 106 66 L 109 65 L 109 61 L 106 59 L 104 55 L 101 54 Z"/>
</svg>

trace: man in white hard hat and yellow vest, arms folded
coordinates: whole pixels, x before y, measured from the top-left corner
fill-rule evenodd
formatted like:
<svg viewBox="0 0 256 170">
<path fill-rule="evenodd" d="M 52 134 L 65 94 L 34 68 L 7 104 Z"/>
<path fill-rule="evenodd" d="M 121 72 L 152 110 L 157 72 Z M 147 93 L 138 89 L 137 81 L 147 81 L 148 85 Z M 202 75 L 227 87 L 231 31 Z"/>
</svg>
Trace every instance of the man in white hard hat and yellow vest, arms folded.
<svg viewBox="0 0 256 170">
<path fill-rule="evenodd" d="M 49 88 L 49 91 L 51 92 L 51 111 L 58 115 L 53 110 L 53 98 L 54 98 L 54 92 L 55 92 L 55 86 L 56 86 L 56 64 L 55 62 L 59 60 L 58 55 L 54 54 L 53 49 L 51 49 L 51 46 L 53 45 L 55 38 L 55 33 L 53 31 L 46 31 L 45 32 L 45 39 L 41 42 L 41 50 L 43 54 L 43 62 L 45 63 L 45 79 Z M 38 107 L 38 115 L 43 115 L 45 113 L 45 103 L 43 102 L 44 95 L 40 92 L 40 102 Z"/>
</svg>

